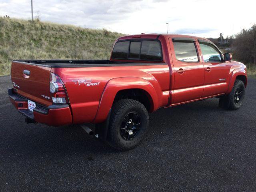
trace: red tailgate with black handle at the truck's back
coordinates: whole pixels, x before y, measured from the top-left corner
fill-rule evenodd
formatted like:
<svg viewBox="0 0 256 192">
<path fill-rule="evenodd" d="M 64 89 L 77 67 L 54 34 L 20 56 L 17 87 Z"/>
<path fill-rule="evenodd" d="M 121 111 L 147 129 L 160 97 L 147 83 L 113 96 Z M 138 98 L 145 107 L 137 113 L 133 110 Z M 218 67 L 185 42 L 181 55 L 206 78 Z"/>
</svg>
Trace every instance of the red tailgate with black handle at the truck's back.
<svg viewBox="0 0 256 192">
<path fill-rule="evenodd" d="M 52 105 L 50 95 L 50 67 L 12 62 L 11 77 L 17 93 L 40 104 Z"/>
</svg>

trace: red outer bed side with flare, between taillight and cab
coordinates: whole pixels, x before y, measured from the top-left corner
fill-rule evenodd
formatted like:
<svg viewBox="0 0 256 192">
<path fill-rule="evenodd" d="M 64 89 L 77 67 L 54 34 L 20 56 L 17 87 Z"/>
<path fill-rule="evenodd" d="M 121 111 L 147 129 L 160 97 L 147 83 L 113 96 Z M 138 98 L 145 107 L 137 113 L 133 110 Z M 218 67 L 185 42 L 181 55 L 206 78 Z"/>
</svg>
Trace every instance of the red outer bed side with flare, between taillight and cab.
<svg viewBox="0 0 256 192">
<path fill-rule="evenodd" d="M 52 68 L 51 72 L 60 76 L 65 84 L 74 123 L 83 123 L 85 120 L 86 122 L 104 120 L 119 90 L 141 88 L 146 92 L 150 92 L 151 94 L 149 95 L 154 97 L 155 101 L 154 110 L 167 104 L 168 96 L 162 96 L 162 92 L 169 90 L 170 74 L 167 64 L 156 66 L 100 67 L 100 69 L 99 71 L 99 67 Z M 89 77 L 92 79 L 92 83 L 99 82 L 99 85 L 87 87 L 84 84 L 74 84 L 72 82 L 74 77 Z M 150 88 L 145 84 L 150 85 Z M 106 103 L 104 102 L 105 100 Z M 96 117 L 97 111 L 101 115 Z M 100 116 L 104 118 L 100 118 Z"/>
</svg>

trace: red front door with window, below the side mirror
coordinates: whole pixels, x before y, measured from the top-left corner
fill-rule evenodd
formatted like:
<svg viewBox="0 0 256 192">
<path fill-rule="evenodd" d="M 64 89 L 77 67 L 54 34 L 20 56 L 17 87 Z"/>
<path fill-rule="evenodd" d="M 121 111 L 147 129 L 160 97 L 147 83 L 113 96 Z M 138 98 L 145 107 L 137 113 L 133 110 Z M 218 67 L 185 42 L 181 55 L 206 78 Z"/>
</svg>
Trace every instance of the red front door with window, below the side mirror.
<svg viewBox="0 0 256 192">
<path fill-rule="evenodd" d="M 198 40 L 204 64 L 203 97 L 225 93 L 228 89 L 230 65 L 222 58 L 221 52 L 211 42 Z"/>
</svg>

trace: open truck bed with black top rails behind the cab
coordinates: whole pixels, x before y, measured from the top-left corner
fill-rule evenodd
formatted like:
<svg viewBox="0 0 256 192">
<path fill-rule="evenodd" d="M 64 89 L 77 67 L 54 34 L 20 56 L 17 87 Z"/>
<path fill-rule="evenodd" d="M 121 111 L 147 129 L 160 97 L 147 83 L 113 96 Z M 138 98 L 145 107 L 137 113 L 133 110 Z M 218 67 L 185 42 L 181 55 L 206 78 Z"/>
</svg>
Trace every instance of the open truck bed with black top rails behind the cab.
<svg viewBox="0 0 256 192">
<path fill-rule="evenodd" d="M 22 64 L 30 64 L 51 68 L 74 68 L 74 67 L 104 67 L 104 66 L 134 66 L 134 65 L 155 65 L 156 63 L 145 62 L 119 62 L 111 60 L 14 60 Z M 165 64 L 165 63 L 157 63 Z"/>
</svg>

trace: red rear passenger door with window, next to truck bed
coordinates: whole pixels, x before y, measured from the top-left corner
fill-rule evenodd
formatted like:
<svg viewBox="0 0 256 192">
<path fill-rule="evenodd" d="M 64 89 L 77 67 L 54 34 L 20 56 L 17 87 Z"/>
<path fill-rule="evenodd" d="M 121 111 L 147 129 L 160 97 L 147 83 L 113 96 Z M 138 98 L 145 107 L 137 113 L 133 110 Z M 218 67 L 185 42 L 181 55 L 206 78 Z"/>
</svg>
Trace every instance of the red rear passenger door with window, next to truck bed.
<svg viewBox="0 0 256 192">
<path fill-rule="evenodd" d="M 174 65 L 172 104 L 202 97 L 204 65 L 199 60 L 194 38 L 169 38 Z"/>
</svg>

